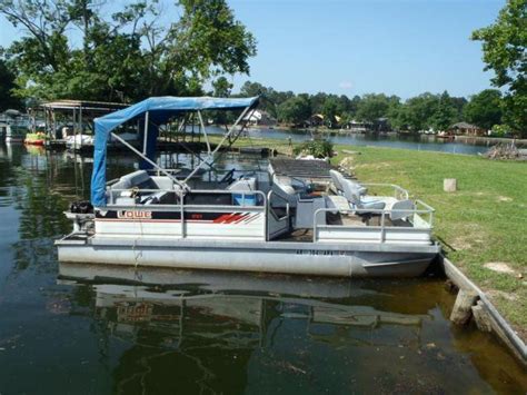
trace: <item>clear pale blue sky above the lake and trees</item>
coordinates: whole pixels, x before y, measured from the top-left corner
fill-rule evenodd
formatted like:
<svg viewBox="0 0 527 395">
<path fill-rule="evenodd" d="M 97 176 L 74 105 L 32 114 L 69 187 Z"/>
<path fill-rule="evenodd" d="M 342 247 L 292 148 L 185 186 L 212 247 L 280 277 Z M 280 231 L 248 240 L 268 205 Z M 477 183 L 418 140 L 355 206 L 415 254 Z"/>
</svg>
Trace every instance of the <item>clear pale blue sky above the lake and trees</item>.
<svg viewBox="0 0 527 395">
<path fill-rule="evenodd" d="M 163 23 L 179 10 L 163 1 Z M 112 7 L 126 0 L 112 1 Z M 471 31 L 490 24 L 505 0 L 228 0 L 258 41 L 246 81 L 296 93 L 453 96 L 490 87 Z M 0 46 L 23 32 L 0 17 Z"/>
</svg>

